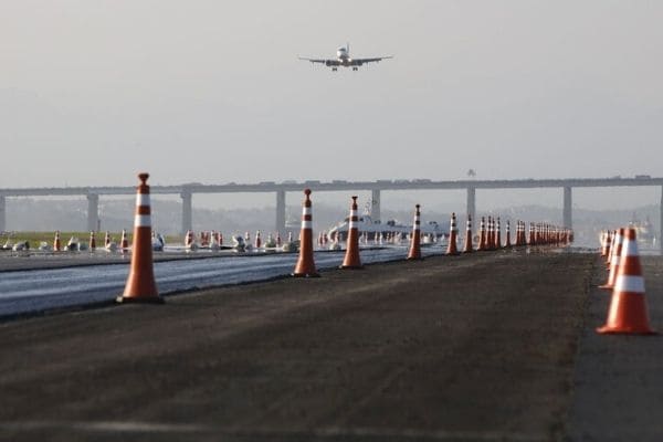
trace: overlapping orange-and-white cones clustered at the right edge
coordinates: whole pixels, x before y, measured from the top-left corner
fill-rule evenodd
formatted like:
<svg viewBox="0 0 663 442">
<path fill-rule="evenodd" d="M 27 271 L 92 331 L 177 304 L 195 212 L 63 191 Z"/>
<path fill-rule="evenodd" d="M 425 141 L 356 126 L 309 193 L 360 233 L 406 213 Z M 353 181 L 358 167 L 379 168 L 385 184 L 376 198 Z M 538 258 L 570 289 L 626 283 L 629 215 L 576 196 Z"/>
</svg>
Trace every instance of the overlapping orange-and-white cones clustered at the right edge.
<svg viewBox="0 0 663 442">
<path fill-rule="evenodd" d="M 654 335 L 646 308 L 644 277 L 635 229 L 603 232 L 601 256 L 607 259 L 608 281 L 600 288 L 612 291 L 606 325 L 600 334 Z"/>
</svg>

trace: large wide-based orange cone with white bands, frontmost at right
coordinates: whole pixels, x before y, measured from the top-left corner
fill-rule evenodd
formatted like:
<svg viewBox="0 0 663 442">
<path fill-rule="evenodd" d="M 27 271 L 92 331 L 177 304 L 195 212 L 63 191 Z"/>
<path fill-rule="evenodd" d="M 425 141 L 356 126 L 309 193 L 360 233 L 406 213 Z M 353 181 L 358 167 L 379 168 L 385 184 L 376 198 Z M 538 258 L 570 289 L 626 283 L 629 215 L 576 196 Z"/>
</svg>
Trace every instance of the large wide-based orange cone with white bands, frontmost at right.
<svg viewBox="0 0 663 442">
<path fill-rule="evenodd" d="M 608 320 L 597 328 L 600 334 L 655 335 L 649 324 L 644 278 L 638 253 L 635 229 L 624 231 L 619 273 L 614 282 Z"/>
</svg>

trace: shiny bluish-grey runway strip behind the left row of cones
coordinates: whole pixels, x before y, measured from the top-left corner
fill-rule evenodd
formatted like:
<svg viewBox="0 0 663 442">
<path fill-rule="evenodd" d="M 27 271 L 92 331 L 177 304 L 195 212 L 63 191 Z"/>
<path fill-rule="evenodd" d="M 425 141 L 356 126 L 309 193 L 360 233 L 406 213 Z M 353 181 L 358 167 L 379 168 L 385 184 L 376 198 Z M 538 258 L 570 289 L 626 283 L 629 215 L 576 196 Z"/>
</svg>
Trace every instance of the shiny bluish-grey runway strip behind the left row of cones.
<svg viewBox="0 0 663 442">
<path fill-rule="evenodd" d="M 423 248 L 425 255 L 441 254 L 439 246 Z M 345 252 L 315 252 L 318 269 L 341 264 Z M 400 260 L 404 246 L 366 248 L 366 263 Z M 155 253 L 155 277 L 162 296 L 221 285 L 266 281 L 288 275 L 296 253 Z M 0 257 L 0 317 L 95 303 L 112 303 L 124 291 L 129 255 L 118 253 L 56 253 Z M 3 272 L 2 272 L 3 271 Z"/>
</svg>

